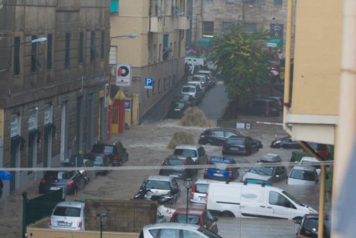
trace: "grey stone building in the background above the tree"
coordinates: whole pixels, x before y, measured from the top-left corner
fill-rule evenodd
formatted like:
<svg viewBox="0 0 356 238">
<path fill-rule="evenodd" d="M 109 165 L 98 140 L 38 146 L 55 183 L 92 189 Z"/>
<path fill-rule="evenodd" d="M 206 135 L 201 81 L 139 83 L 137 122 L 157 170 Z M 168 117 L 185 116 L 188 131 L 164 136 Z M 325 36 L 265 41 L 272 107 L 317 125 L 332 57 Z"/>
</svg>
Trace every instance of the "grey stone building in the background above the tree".
<svg viewBox="0 0 356 238">
<path fill-rule="evenodd" d="M 243 21 L 249 32 L 271 30 L 278 48 L 286 44 L 287 0 L 193 0 L 192 16 L 192 42 L 227 32 L 232 22 Z"/>
</svg>

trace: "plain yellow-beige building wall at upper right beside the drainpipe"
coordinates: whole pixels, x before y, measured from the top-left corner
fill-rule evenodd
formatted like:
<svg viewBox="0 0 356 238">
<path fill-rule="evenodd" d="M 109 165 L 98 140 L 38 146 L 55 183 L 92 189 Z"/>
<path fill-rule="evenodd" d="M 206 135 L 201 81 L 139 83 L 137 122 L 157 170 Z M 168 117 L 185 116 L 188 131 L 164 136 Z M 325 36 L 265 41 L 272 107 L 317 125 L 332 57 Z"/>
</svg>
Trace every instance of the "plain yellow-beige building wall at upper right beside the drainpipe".
<svg viewBox="0 0 356 238">
<path fill-rule="evenodd" d="M 337 115 L 342 1 L 297 1 L 293 114 Z"/>
</svg>

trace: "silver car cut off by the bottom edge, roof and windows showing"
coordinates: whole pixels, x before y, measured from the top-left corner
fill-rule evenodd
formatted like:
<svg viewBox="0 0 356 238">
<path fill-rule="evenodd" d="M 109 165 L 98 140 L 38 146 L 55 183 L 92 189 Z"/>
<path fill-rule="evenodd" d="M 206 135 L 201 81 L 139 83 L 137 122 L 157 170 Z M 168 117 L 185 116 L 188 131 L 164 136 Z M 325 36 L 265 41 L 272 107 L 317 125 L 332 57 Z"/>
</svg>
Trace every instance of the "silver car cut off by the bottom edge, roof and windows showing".
<svg viewBox="0 0 356 238">
<path fill-rule="evenodd" d="M 182 232 L 180 232 L 182 231 Z M 190 223 L 158 223 L 142 228 L 138 238 L 221 238 L 208 229 Z"/>
</svg>

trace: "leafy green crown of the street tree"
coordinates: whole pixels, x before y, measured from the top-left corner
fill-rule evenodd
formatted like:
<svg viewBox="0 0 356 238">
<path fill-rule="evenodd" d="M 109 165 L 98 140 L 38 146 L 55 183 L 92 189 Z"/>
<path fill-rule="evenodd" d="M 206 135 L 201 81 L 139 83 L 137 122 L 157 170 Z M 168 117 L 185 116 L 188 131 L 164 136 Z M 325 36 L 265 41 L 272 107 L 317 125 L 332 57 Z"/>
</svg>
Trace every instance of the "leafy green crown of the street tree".
<svg viewBox="0 0 356 238">
<path fill-rule="evenodd" d="M 209 60 L 225 81 L 229 98 L 248 93 L 256 83 L 268 78 L 268 56 L 263 50 L 268 32 L 247 33 L 242 22 L 230 26 L 230 32 L 214 36 Z"/>
</svg>

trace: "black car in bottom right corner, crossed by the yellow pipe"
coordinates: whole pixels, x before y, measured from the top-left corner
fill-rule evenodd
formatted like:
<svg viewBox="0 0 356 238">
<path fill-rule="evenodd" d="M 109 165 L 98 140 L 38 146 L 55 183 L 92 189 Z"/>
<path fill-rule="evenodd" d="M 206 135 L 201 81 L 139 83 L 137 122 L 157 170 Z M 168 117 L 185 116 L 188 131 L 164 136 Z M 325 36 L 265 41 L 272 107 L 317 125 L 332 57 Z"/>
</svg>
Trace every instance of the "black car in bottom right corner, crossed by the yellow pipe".
<svg viewBox="0 0 356 238">
<path fill-rule="evenodd" d="M 319 215 L 315 213 L 304 215 L 302 221 L 295 220 L 295 223 L 300 225 L 295 237 L 318 238 L 318 221 Z M 330 238 L 330 228 L 330 216 L 326 215 L 324 220 L 324 238 Z"/>
</svg>

